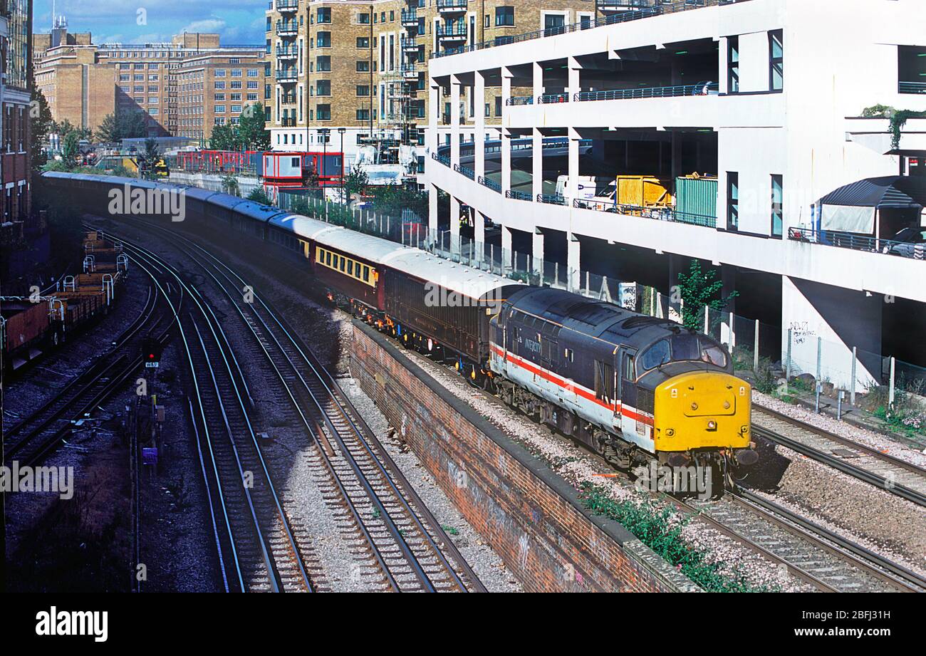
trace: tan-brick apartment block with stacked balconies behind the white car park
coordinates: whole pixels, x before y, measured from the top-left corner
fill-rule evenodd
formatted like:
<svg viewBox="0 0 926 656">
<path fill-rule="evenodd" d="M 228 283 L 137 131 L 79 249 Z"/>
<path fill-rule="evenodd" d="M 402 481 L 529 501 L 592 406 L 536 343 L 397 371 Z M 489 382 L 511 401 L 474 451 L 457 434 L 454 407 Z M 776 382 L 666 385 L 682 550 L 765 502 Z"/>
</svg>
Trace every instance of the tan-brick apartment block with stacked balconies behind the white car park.
<svg viewBox="0 0 926 656">
<path fill-rule="evenodd" d="M 435 54 L 555 32 L 595 14 L 591 0 L 273 0 L 266 43 L 273 147 L 308 149 L 327 138 L 340 148 L 331 140 L 341 132 L 348 167 L 369 145 L 384 161 L 423 170 L 427 65 Z M 471 101 L 467 107 L 476 111 Z M 501 113 L 492 98 L 479 110 L 490 121 Z"/>
</svg>

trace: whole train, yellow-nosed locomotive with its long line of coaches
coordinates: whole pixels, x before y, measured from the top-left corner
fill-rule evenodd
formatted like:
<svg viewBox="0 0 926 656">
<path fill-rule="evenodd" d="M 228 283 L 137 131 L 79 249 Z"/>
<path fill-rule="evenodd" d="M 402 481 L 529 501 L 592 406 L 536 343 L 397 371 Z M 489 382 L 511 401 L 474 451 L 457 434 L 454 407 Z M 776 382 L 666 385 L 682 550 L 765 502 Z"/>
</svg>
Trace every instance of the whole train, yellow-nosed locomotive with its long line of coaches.
<svg viewBox="0 0 926 656">
<path fill-rule="evenodd" d="M 706 334 L 237 196 L 67 173 L 45 173 L 44 183 L 95 211 L 126 184 L 182 193 L 184 229 L 218 245 L 253 240 L 406 347 L 438 356 L 619 468 L 655 461 L 727 474 L 757 461 L 751 387 Z"/>
</svg>

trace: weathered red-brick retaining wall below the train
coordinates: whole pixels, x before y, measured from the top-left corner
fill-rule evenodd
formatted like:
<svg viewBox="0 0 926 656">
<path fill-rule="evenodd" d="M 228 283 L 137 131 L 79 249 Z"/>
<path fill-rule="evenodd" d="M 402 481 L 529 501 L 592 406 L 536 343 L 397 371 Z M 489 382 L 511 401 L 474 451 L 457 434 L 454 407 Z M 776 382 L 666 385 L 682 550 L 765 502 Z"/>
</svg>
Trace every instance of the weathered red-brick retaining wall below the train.
<svg viewBox="0 0 926 656">
<path fill-rule="evenodd" d="M 469 524 L 525 589 L 697 591 L 632 536 L 593 516 L 576 490 L 439 385 L 398 347 L 354 322 L 350 370 Z"/>
</svg>

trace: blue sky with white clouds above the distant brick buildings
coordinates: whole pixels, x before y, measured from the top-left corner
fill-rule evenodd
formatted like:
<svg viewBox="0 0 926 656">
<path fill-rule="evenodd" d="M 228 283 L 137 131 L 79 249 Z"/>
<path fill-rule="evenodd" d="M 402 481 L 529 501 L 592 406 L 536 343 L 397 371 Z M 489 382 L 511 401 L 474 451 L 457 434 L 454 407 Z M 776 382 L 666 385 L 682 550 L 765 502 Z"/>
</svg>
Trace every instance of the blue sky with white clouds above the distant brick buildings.
<svg viewBox="0 0 926 656">
<path fill-rule="evenodd" d="M 219 32 L 222 44 L 263 44 L 267 0 L 56 0 L 70 32 L 94 43 L 169 41 L 180 32 Z M 52 24 L 52 0 L 34 0 L 35 32 Z"/>
</svg>

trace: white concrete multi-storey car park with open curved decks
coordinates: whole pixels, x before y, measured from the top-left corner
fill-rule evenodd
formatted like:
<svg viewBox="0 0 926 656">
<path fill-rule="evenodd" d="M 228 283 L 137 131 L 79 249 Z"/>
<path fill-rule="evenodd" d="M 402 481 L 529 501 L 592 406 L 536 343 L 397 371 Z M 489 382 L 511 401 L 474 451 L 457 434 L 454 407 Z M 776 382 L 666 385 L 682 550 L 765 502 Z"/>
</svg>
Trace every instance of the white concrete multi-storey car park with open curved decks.
<svg viewBox="0 0 926 656">
<path fill-rule="evenodd" d="M 491 221 L 506 258 L 558 259 L 571 288 L 592 271 L 666 295 L 703 260 L 731 309 L 782 328 L 782 358 L 835 385 L 926 363 L 926 6 L 617 4 L 432 54 L 432 231 L 481 253 Z M 499 93 L 500 127 L 442 111 Z"/>
</svg>

